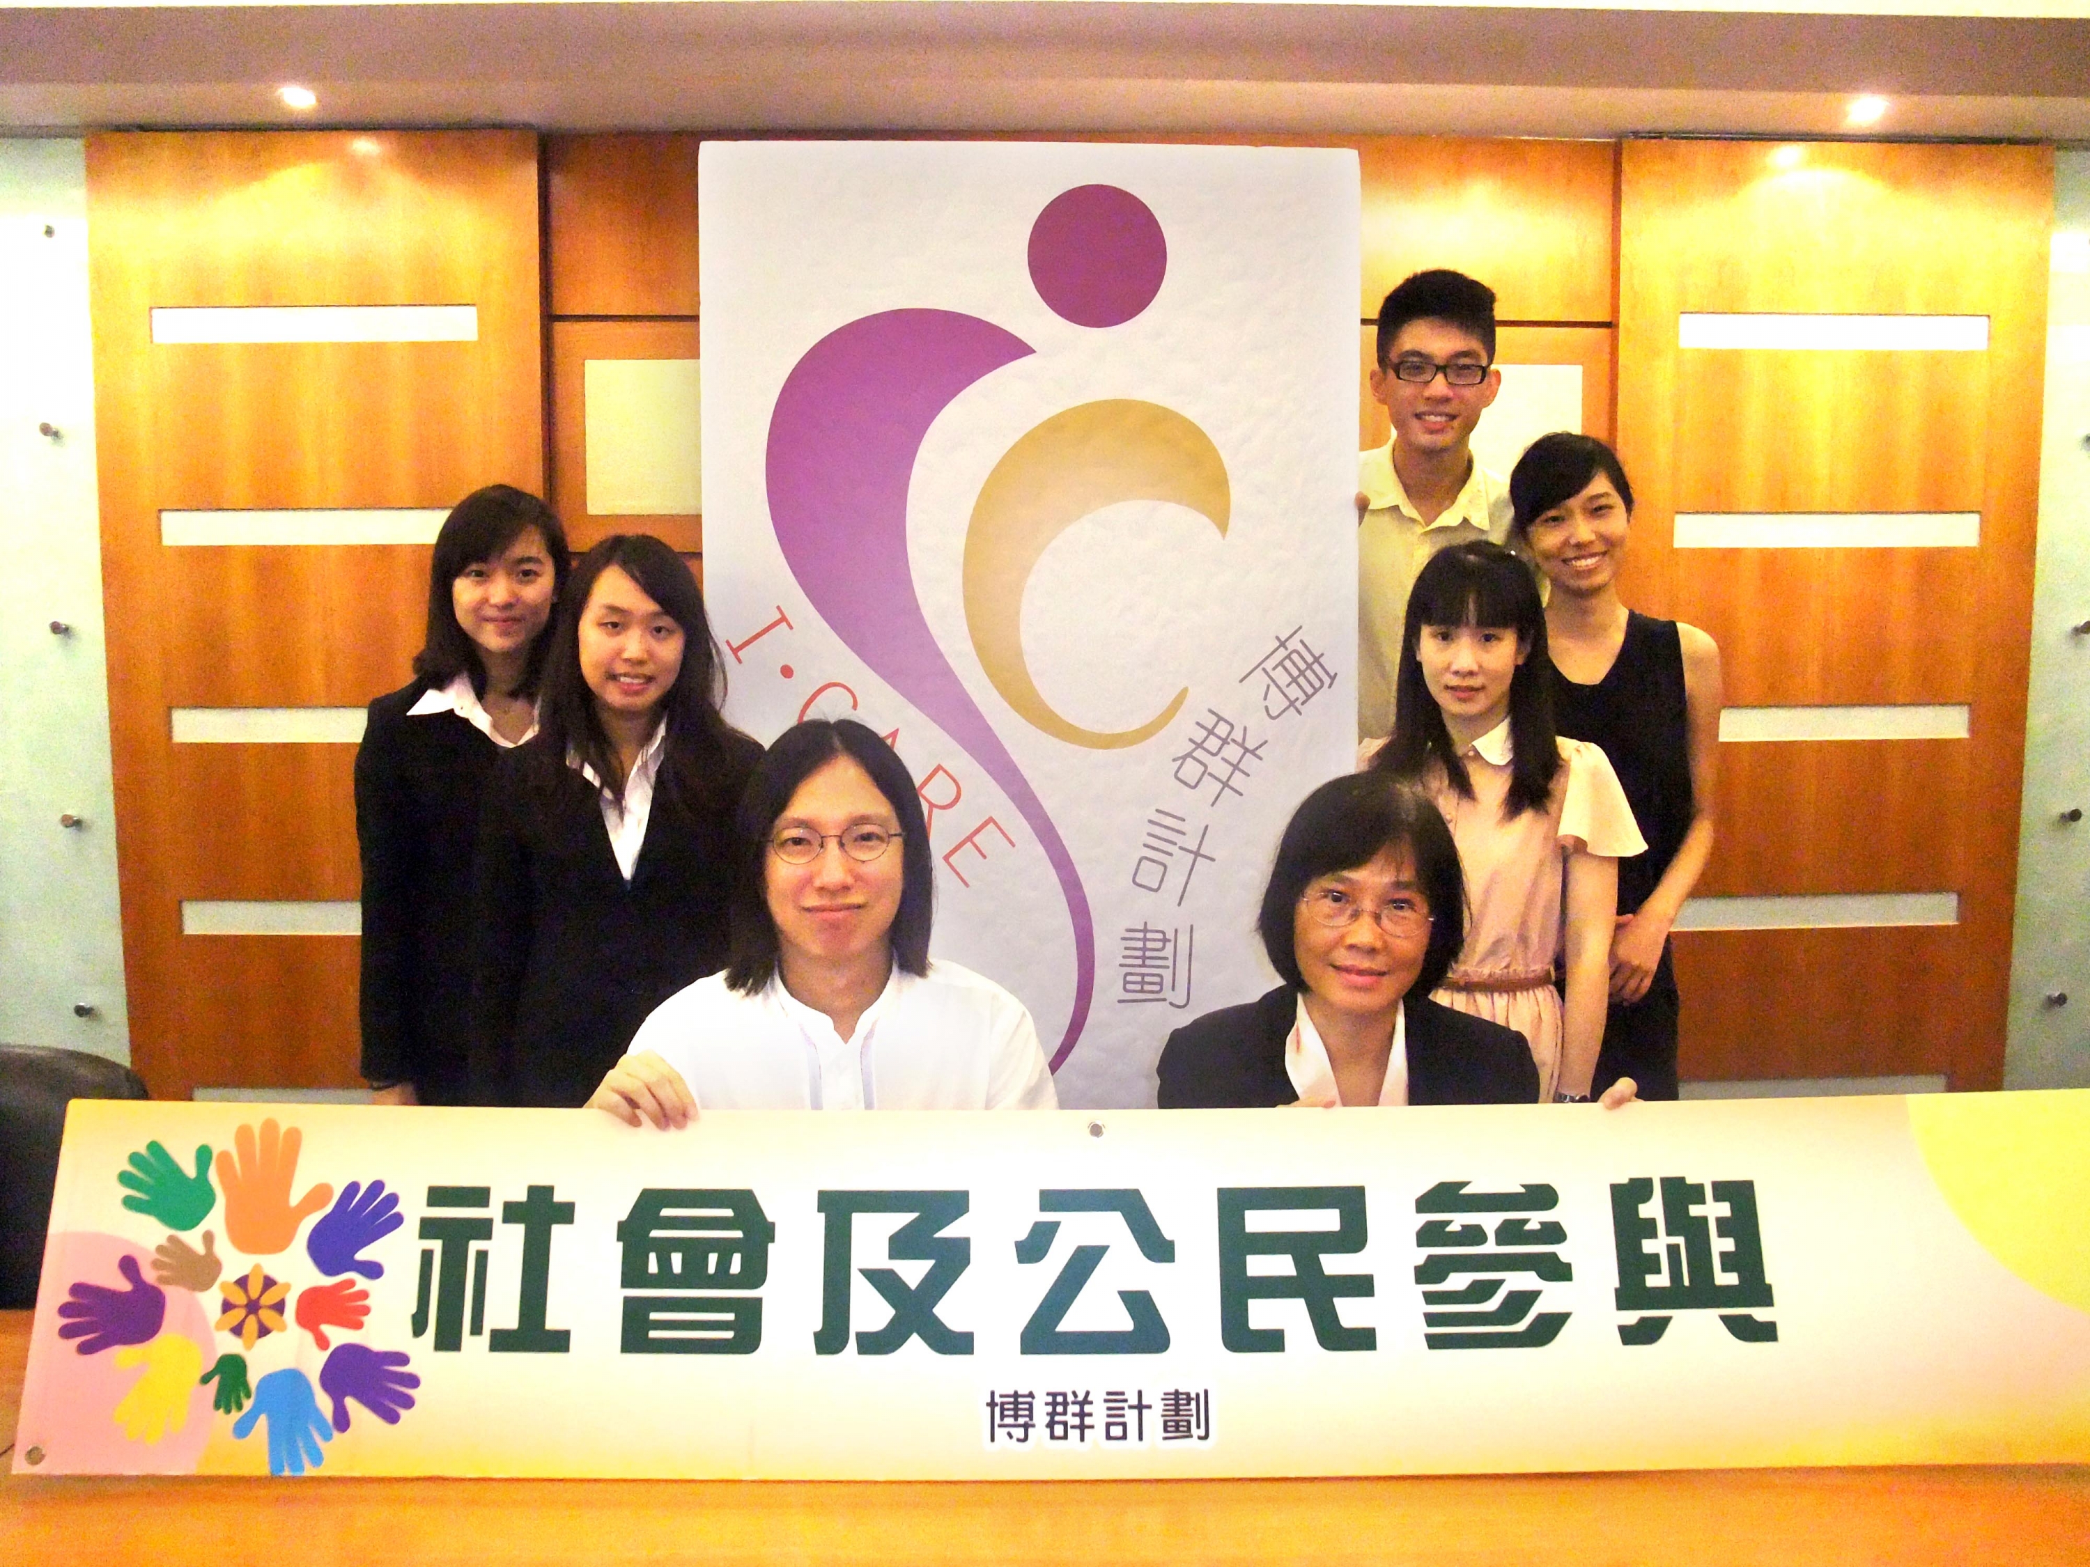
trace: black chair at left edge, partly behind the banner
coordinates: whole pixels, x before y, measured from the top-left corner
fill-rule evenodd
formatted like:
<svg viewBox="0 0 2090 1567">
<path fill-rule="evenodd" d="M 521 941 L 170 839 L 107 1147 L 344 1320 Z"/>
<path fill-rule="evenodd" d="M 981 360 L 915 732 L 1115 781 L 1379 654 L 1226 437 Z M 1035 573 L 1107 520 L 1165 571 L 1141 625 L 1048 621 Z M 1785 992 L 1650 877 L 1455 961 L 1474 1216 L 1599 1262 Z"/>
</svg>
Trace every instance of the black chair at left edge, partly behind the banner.
<svg viewBox="0 0 2090 1567">
<path fill-rule="evenodd" d="M 36 1306 L 65 1105 L 150 1097 L 144 1078 L 104 1055 L 0 1045 L 0 1310 Z"/>
</svg>

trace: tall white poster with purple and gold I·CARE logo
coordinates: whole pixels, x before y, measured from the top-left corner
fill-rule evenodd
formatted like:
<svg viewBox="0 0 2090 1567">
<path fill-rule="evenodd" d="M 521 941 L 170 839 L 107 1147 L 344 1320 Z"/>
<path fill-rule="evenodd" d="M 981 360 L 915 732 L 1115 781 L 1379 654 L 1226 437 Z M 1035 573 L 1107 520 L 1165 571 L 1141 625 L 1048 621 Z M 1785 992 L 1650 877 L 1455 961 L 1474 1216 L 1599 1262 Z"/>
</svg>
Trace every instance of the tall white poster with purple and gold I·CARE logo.
<svg viewBox="0 0 2090 1567">
<path fill-rule="evenodd" d="M 936 955 L 1147 1105 L 1352 761 L 1356 157 L 706 142 L 700 203 L 727 710 L 892 740 Z"/>
</svg>

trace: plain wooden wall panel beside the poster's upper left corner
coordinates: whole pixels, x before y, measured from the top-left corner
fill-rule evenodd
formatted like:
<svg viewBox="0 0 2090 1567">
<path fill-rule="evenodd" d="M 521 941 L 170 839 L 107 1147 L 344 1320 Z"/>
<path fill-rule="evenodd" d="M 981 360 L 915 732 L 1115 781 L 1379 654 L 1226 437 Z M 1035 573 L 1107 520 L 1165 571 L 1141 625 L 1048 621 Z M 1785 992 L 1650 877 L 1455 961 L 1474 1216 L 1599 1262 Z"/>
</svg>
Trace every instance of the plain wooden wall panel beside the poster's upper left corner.
<svg viewBox="0 0 2090 1567">
<path fill-rule="evenodd" d="M 548 136 L 554 315 L 696 315 L 696 136 Z"/>
</svg>

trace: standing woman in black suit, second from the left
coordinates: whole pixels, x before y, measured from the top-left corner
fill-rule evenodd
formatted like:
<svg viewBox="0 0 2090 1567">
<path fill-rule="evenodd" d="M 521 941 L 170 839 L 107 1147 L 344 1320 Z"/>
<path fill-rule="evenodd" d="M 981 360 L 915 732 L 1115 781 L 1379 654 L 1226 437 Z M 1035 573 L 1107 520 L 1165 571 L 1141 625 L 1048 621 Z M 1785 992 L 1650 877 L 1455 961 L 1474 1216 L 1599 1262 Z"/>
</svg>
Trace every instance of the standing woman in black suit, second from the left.
<svg viewBox="0 0 2090 1567">
<path fill-rule="evenodd" d="M 650 535 L 575 566 L 539 731 L 500 758 L 474 871 L 470 1091 L 579 1105 L 725 963 L 732 815 L 761 748 L 719 712 L 704 598 Z"/>
</svg>

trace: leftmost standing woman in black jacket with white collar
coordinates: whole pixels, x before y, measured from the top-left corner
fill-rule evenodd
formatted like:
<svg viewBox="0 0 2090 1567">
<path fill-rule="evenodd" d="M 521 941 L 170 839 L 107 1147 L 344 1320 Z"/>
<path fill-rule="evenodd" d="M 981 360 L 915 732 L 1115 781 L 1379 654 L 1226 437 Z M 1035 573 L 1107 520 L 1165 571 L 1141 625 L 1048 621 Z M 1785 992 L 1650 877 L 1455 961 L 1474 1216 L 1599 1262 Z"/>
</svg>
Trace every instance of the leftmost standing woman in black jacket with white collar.
<svg viewBox="0 0 2090 1567">
<path fill-rule="evenodd" d="M 428 568 L 414 679 L 370 704 L 355 752 L 364 867 L 362 1070 L 389 1105 L 466 1097 L 466 949 L 479 802 L 493 758 L 537 731 L 545 625 L 566 531 L 487 485 L 451 508 Z"/>
</svg>

